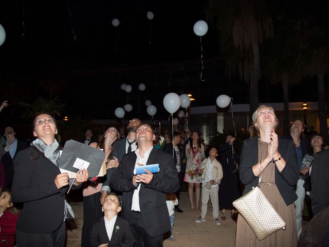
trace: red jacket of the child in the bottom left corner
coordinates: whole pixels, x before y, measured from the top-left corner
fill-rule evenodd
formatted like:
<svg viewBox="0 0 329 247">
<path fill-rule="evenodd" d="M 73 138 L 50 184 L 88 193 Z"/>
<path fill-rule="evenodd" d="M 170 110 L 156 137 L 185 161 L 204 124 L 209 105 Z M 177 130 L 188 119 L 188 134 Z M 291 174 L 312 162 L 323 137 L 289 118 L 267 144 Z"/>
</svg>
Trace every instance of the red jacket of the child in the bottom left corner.
<svg viewBox="0 0 329 247">
<path fill-rule="evenodd" d="M 10 211 L 0 217 L 0 246 L 13 247 L 15 245 L 16 221 L 18 215 L 12 214 Z"/>
</svg>

